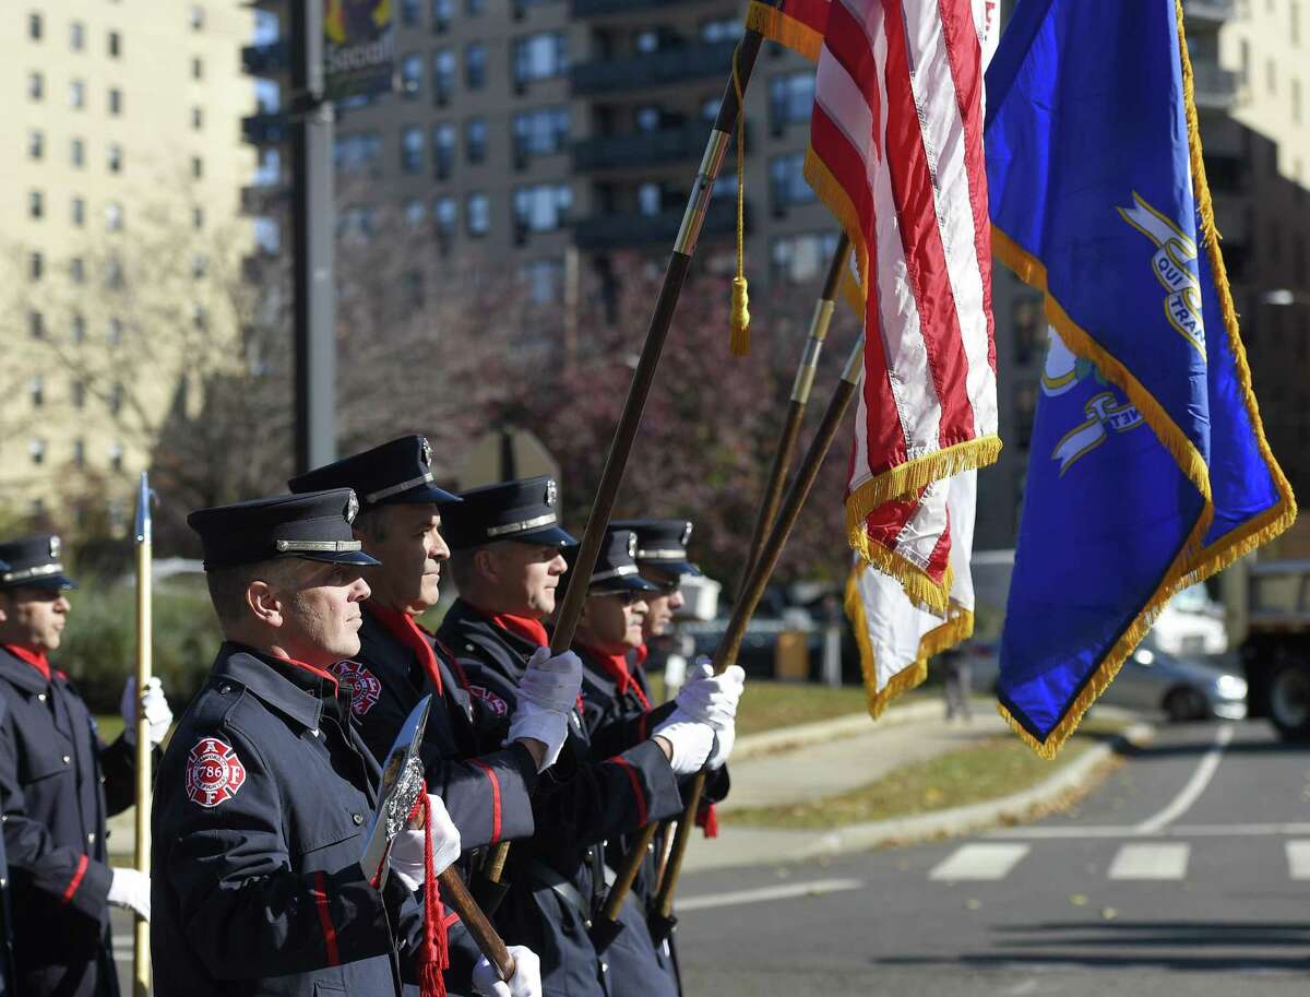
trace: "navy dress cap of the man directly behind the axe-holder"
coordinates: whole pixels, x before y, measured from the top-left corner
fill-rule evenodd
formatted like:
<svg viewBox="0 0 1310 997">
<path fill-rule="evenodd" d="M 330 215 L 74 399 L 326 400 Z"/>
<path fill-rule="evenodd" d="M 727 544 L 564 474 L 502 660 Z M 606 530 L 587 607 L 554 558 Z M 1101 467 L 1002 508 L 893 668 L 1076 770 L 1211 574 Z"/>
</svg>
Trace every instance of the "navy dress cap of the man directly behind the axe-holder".
<svg viewBox="0 0 1310 997">
<path fill-rule="evenodd" d="M 314 468 L 287 482 L 295 493 L 355 489 L 360 508 L 458 502 L 432 483 L 432 448 L 424 436 L 401 436 L 371 451 Z"/>
</svg>

